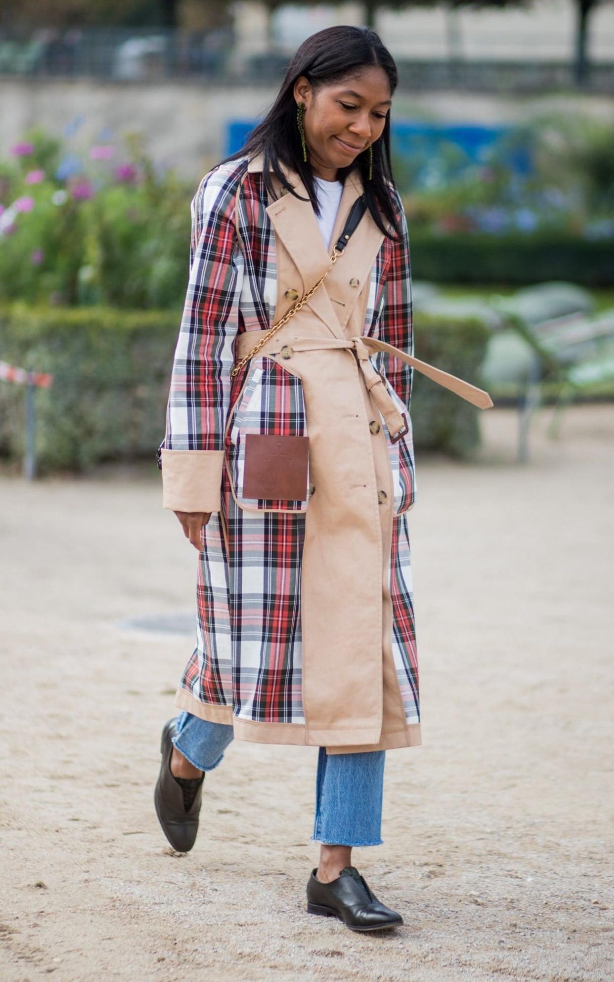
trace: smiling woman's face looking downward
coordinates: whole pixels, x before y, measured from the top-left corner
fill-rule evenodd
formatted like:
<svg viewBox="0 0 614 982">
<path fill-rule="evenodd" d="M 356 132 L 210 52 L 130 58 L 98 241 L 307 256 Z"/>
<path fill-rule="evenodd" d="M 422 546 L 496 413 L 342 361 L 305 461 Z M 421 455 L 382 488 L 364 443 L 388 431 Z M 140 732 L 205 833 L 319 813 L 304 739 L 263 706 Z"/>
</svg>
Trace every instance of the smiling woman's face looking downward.
<svg viewBox="0 0 614 982">
<path fill-rule="evenodd" d="M 313 173 L 325 181 L 335 181 L 337 168 L 349 167 L 379 139 L 391 104 L 388 77 L 377 65 L 318 88 L 301 76 L 294 95 L 297 105 L 306 104 L 307 157 Z"/>
</svg>

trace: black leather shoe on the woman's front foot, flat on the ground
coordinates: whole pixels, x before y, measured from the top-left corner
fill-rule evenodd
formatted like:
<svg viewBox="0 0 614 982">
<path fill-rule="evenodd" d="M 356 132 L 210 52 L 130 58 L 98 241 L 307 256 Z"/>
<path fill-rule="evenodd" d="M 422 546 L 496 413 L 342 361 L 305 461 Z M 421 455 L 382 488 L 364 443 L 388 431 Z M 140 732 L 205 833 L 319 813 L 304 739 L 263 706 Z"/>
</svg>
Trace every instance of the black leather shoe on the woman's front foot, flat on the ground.
<svg viewBox="0 0 614 982">
<path fill-rule="evenodd" d="M 320 883 L 316 872 L 311 870 L 307 883 L 310 914 L 338 917 L 352 931 L 381 931 L 403 924 L 401 914 L 377 900 L 356 866 L 346 866 L 331 883 Z"/>
</svg>

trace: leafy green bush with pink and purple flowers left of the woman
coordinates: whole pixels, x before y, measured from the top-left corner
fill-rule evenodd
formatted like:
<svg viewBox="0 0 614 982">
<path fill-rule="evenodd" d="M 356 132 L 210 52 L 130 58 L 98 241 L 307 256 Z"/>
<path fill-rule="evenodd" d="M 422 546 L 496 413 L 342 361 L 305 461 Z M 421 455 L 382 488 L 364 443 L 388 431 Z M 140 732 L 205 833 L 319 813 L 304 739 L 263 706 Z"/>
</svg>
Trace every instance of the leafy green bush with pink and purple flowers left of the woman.
<svg viewBox="0 0 614 982">
<path fill-rule="evenodd" d="M 63 155 L 40 131 L 13 149 L 13 160 L 0 166 L 3 300 L 181 302 L 195 189 L 172 171 L 156 171 L 137 136 L 121 152 L 109 143 L 92 147 L 88 161 Z"/>
</svg>

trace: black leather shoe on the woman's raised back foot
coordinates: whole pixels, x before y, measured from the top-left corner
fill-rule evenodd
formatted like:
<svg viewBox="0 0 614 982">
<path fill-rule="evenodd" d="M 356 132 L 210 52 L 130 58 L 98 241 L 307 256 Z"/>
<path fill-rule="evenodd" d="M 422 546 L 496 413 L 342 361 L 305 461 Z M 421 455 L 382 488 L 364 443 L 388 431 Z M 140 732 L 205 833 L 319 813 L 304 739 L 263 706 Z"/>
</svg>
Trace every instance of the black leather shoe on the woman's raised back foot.
<svg viewBox="0 0 614 982">
<path fill-rule="evenodd" d="M 153 802 L 162 831 L 171 846 L 178 852 L 189 852 L 195 844 L 198 831 L 204 774 L 201 778 L 186 782 L 184 786 L 186 795 L 184 795 L 184 788 L 171 773 L 172 737 L 175 736 L 175 724 L 176 719 L 173 718 L 162 730 L 160 742 L 162 763 L 153 792 Z M 186 807 L 187 803 L 188 807 Z"/>
</svg>

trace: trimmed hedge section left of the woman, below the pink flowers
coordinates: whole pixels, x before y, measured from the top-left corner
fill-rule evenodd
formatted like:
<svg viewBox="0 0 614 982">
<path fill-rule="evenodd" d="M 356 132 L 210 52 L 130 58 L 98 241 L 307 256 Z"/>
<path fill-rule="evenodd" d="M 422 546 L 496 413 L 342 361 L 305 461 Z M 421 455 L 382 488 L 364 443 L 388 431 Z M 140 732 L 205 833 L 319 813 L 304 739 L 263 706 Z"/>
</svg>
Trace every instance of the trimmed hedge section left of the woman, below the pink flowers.
<svg viewBox="0 0 614 982">
<path fill-rule="evenodd" d="M 51 372 L 36 392 L 39 470 L 150 457 L 164 436 L 180 312 L 87 307 L 0 313 L 5 360 Z M 20 459 L 24 386 L 0 381 L 0 447 Z"/>
</svg>

